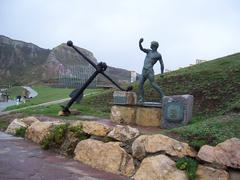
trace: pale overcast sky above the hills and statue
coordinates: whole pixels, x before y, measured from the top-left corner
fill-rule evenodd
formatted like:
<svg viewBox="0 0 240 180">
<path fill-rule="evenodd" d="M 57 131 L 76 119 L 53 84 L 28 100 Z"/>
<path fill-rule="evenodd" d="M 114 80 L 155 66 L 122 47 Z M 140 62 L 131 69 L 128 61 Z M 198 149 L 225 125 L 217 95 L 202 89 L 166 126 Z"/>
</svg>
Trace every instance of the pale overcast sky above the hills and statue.
<svg viewBox="0 0 240 180">
<path fill-rule="evenodd" d="M 166 69 L 240 52 L 239 0 L 1 0 L 0 34 L 52 49 L 67 40 L 141 72 L 159 42 Z M 159 64 L 155 72 L 160 72 Z"/>
</svg>

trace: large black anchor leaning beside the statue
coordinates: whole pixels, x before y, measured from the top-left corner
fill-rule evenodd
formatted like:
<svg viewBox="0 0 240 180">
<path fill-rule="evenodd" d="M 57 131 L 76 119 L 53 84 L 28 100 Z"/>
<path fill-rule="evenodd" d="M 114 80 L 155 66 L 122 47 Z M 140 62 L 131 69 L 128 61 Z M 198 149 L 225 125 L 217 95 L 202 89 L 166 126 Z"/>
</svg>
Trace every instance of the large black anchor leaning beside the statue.
<svg viewBox="0 0 240 180">
<path fill-rule="evenodd" d="M 78 89 L 76 91 L 76 93 L 74 93 L 74 95 L 72 96 L 70 101 L 67 103 L 67 105 L 62 106 L 63 109 L 62 109 L 62 111 L 59 112 L 59 115 L 68 116 L 69 114 L 71 114 L 71 111 L 69 110 L 71 105 L 79 98 L 79 96 L 81 96 L 81 94 L 83 94 L 84 90 L 89 86 L 89 84 L 91 84 L 91 82 L 95 79 L 95 77 L 99 73 L 102 74 L 103 76 L 105 76 L 110 82 L 112 82 L 115 86 L 117 86 L 121 91 L 131 91 L 132 90 L 132 86 L 129 86 L 127 89 L 124 89 L 124 88 L 120 87 L 113 79 L 111 79 L 107 74 L 104 73 L 107 69 L 107 64 L 106 63 L 100 62 L 98 64 L 95 64 L 88 57 L 86 57 L 82 52 L 80 52 L 73 45 L 72 41 L 68 41 L 67 45 L 69 47 L 72 47 L 79 55 L 81 55 L 88 63 L 90 63 L 95 68 L 96 71 L 89 77 L 89 79 L 83 84 L 83 86 L 80 89 Z"/>
</svg>

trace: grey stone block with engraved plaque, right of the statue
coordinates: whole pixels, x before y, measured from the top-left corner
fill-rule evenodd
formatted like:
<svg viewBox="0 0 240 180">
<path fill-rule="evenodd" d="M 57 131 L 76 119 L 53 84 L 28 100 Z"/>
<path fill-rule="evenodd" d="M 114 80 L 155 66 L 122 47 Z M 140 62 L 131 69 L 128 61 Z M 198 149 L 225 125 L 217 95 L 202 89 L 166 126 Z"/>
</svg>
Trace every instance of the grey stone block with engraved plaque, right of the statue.
<svg viewBox="0 0 240 180">
<path fill-rule="evenodd" d="M 193 96 L 176 95 L 163 97 L 162 128 L 186 125 L 192 118 Z"/>
</svg>

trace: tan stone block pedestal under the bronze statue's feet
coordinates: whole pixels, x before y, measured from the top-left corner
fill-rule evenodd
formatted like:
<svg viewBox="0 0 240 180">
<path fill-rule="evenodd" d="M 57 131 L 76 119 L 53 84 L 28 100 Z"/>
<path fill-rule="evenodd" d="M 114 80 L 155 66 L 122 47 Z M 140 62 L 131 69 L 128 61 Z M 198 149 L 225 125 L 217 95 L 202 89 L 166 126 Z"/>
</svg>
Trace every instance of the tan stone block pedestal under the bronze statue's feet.
<svg viewBox="0 0 240 180">
<path fill-rule="evenodd" d="M 161 108 L 140 105 L 114 105 L 111 109 L 111 120 L 120 124 L 159 127 Z"/>
</svg>

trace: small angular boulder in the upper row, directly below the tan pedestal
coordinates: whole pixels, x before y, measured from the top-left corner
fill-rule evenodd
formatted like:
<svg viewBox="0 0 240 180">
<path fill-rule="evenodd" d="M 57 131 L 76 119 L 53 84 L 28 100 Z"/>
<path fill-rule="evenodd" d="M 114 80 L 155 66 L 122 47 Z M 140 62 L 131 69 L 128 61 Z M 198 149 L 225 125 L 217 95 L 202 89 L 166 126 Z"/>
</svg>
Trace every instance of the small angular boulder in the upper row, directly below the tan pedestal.
<svg viewBox="0 0 240 180">
<path fill-rule="evenodd" d="M 136 138 L 139 134 L 140 133 L 137 128 L 117 125 L 110 133 L 108 133 L 107 136 L 124 142 Z"/>
</svg>

